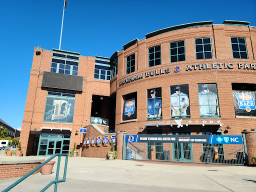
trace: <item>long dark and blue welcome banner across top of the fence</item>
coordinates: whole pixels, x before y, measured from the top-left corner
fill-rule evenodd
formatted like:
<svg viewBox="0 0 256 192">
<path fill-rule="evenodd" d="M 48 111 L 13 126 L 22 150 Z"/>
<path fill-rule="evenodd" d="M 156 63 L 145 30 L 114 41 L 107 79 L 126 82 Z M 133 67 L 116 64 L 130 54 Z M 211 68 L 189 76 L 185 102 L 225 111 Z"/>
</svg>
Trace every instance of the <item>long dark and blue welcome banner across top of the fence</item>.
<svg viewBox="0 0 256 192">
<path fill-rule="evenodd" d="M 126 142 L 242 144 L 241 135 L 126 135 Z"/>
</svg>

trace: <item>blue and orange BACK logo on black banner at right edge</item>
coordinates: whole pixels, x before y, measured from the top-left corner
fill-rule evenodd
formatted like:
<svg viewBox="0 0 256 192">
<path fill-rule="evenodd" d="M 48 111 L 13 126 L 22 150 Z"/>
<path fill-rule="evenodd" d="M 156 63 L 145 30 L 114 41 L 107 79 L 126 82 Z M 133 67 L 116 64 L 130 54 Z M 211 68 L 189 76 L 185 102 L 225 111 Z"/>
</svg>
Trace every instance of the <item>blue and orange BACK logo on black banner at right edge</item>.
<svg viewBox="0 0 256 192">
<path fill-rule="evenodd" d="M 245 109 L 247 112 L 255 109 L 255 103 L 252 94 L 236 93 L 240 109 Z"/>
</svg>

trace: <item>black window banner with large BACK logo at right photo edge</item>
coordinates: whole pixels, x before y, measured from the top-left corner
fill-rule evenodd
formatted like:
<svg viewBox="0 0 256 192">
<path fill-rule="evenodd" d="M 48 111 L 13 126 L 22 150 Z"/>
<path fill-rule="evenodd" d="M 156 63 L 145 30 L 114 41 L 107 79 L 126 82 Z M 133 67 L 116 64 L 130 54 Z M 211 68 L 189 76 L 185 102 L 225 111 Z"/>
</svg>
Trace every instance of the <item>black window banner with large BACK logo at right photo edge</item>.
<svg viewBox="0 0 256 192">
<path fill-rule="evenodd" d="M 232 90 L 235 116 L 256 116 L 256 91 Z"/>
</svg>

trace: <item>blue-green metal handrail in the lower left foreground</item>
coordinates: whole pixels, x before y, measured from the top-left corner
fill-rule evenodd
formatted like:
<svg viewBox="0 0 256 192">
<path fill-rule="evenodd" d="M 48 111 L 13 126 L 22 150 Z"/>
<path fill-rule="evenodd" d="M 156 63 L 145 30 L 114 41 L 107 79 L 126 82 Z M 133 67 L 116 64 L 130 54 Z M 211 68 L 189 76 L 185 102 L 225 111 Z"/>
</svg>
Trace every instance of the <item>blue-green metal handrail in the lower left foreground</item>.
<svg viewBox="0 0 256 192">
<path fill-rule="evenodd" d="M 8 190 L 10 190 L 11 188 L 13 188 L 14 186 L 16 186 L 18 183 L 20 183 L 22 180 L 24 180 L 25 178 L 27 178 L 29 175 L 31 175 L 32 173 L 34 173 L 36 170 L 38 170 L 39 168 L 41 168 L 44 164 L 46 164 L 47 162 L 49 162 L 52 158 L 54 158 L 55 156 L 58 156 L 58 162 L 57 162 L 57 171 L 56 171 L 56 177 L 55 180 L 52 180 L 49 184 L 47 184 L 42 190 L 40 190 L 40 192 L 45 191 L 51 184 L 55 184 L 54 185 L 54 192 L 57 191 L 57 184 L 58 182 L 64 182 L 66 180 L 66 167 L 67 167 L 67 158 L 68 158 L 68 154 L 63 154 L 63 153 L 56 153 L 54 155 L 52 155 L 50 158 L 48 158 L 47 160 L 45 160 L 43 163 L 41 163 L 40 165 L 38 165 L 37 167 L 35 167 L 33 170 L 31 170 L 30 172 L 28 172 L 26 175 L 22 176 L 20 179 L 18 179 L 16 182 L 14 182 L 13 184 L 11 184 L 10 186 L 8 186 L 7 188 L 5 188 L 2 192 L 7 192 Z M 61 156 L 66 156 L 65 158 L 65 167 L 64 167 L 64 174 L 63 174 L 63 179 L 58 179 L 58 172 L 59 172 L 59 165 L 60 165 L 60 157 Z"/>
</svg>

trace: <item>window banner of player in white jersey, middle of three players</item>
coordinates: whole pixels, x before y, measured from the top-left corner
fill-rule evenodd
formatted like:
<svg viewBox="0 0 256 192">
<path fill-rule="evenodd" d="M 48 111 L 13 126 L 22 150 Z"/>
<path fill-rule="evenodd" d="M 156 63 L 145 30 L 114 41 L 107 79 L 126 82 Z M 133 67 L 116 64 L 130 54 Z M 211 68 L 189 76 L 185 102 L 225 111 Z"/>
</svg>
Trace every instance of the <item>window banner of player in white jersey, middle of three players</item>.
<svg viewBox="0 0 256 192">
<path fill-rule="evenodd" d="M 170 86 L 171 118 L 190 117 L 188 85 Z"/>
</svg>

